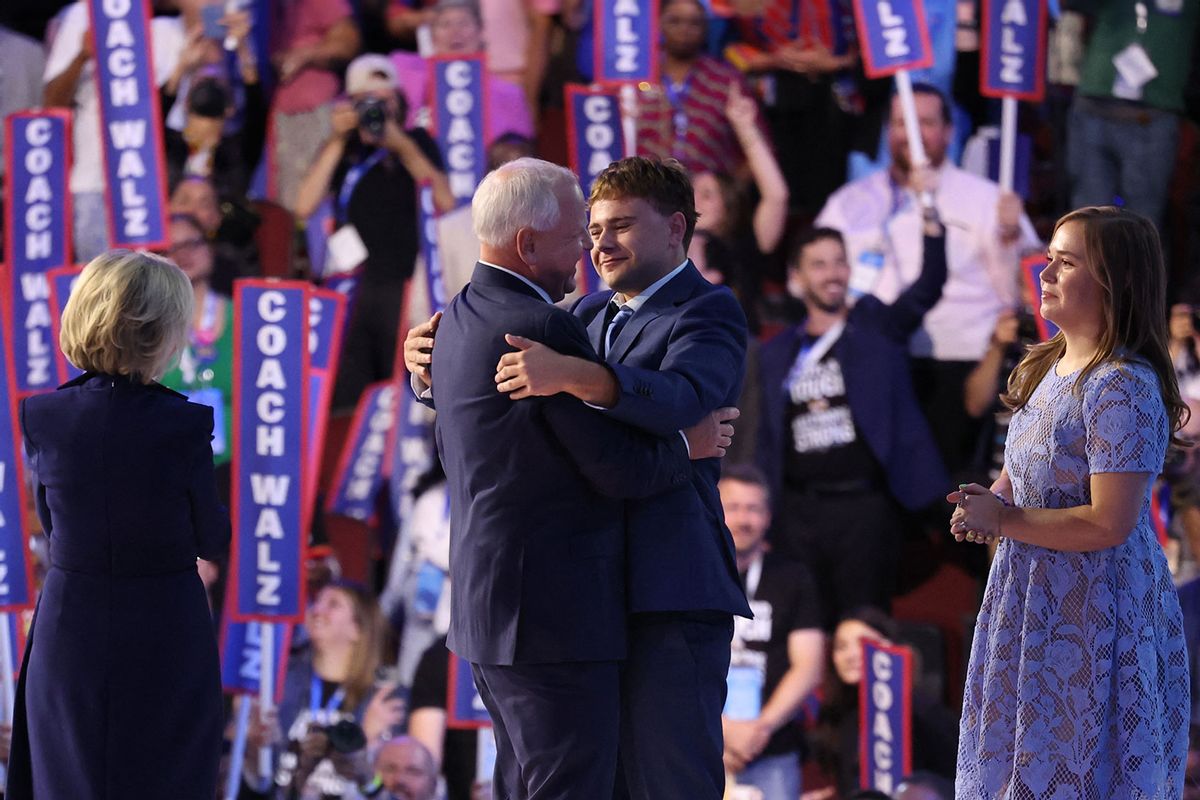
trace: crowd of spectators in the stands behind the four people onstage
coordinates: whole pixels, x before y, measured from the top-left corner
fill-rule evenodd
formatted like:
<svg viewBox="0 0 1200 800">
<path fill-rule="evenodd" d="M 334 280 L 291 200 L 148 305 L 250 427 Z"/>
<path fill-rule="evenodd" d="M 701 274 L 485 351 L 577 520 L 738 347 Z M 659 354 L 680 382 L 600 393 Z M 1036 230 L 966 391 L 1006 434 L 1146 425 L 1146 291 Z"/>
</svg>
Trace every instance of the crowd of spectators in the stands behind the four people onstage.
<svg viewBox="0 0 1200 800">
<path fill-rule="evenodd" d="M 563 85 L 592 78 L 594 1 L 148 0 L 167 254 L 196 290 L 191 342 L 164 383 L 216 409 L 227 497 L 233 282 L 353 276 L 332 401 L 350 411 L 391 377 L 397 332 L 424 319 L 419 186 L 449 294 L 478 254 L 428 130 L 430 59 L 486 54 L 490 167 L 529 154 L 565 162 Z M 107 248 L 86 6 L 4 5 L 0 116 L 73 112 L 84 263 Z M 731 287 L 755 335 L 720 487 L 756 613 L 738 622 L 733 663 L 764 678 L 746 703 L 731 673 L 732 796 L 794 800 L 802 786 L 856 796 L 864 636 L 908 643 L 924 663 L 919 771 L 895 796 L 949 796 L 954 654 L 970 640 L 986 557 L 947 543 L 937 500 L 998 474 L 1008 411 L 997 395 L 1042 335 L 1021 260 L 1070 207 L 1122 204 L 1159 225 L 1171 353 L 1198 411 L 1184 433 L 1200 433 L 1200 5 L 1050 4 L 1046 97 L 1020 114 L 1019 193 L 995 180 L 1000 106 L 978 91 L 980 5 L 925 2 L 936 60 L 913 76 L 924 168 L 910 162 L 890 79 L 863 71 L 847 0 L 661 0 L 661 80 L 625 104 L 637 151 L 690 170 L 700 221 L 689 255 Z M 1148 70 L 1122 67 L 1134 49 Z M 1182 582 L 1200 561 L 1196 453 L 1172 451 L 1163 486 L 1164 547 Z M 314 561 L 324 577 L 293 638 L 284 702 L 252 715 L 251 751 L 272 748 L 274 774 L 264 781 L 247 758 L 239 796 L 486 796 L 486 729 L 448 727 L 437 467 L 410 500 L 401 519 L 379 515 L 366 584 L 329 575 L 336 554 Z M 220 613 L 223 565 L 202 569 Z M 913 600 L 955 581 L 968 589 L 949 613 Z M 1200 610 L 1189 625 L 1200 631 Z M 340 721 L 364 741 L 347 741 Z"/>
</svg>

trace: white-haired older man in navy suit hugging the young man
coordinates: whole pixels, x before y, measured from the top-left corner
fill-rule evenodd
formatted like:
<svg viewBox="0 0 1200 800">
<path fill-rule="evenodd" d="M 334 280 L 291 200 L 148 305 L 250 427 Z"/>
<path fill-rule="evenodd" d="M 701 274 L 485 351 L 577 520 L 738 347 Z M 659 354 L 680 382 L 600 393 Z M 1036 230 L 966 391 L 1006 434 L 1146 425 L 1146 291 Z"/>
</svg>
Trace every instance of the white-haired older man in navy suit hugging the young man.
<svg viewBox="0 0 1200 800">
<path fill-rule="evenodd" d="M 533 158 L 490 174 L 472 207 L 480 263 L 432 353 L 450 486 L 448 645 L 492 717 L 496 796 L 608 800 L 626 643 L 625 505 L 612 498 L 684 489 L 689 453 L 720 455 L 731 431 L 704 414 L 654 435 L 565 395 L 497 392 L 505 333 L 595 359 L 581 321 L 553 305 L 574 285 L 586 210 L 570 172 Z"/>
</svg>

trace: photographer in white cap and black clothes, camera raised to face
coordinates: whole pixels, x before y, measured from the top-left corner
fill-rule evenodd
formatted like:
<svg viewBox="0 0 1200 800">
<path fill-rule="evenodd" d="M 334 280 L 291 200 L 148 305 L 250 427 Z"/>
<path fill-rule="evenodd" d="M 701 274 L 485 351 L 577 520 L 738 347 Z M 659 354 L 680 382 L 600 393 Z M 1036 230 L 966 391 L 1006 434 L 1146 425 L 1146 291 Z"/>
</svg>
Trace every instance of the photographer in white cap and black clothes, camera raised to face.
<svg viewBox="0 0 1200 800">
<path fill-rule="evenodd" d="M 408 103 L 383 55 L 360 55 L 334 103 L 334 132 L 300 184 L 295 211 L 326 198 L 336 231 L 326 273 L 355 270 L 358 290 L 334 389 L 334 408 L 353 408 L 362 389 L 391 375 L 404 282 L 419 251 L 418 185 L 428 181 L 438 211 L 455 207 L 433 139 L 404 130 Z M 362 257 L 365 253 L 365 258 Z"/>
</svg>

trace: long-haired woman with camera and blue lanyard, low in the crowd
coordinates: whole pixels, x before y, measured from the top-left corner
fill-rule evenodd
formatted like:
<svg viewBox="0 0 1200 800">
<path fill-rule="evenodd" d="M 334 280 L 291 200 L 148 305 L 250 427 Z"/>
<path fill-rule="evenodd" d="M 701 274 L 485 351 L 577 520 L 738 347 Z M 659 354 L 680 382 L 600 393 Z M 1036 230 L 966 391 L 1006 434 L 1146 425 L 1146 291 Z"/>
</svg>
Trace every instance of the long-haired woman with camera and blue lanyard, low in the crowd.
<svg viewBox="0 0 1200 800">
<path fill-rule="evenodd" d="M 377 685 L 384 621 L 366 588 L 335 581 L 317 593 L 305 618 L 307 650 L 288 658 L 277 712 L 251 715 L 247 753 L 274 745 L 274 786 L 247 758 L 239 798 L 374 796 L 374 751 L 404 720 L 395 686 Z"/>
</svg>

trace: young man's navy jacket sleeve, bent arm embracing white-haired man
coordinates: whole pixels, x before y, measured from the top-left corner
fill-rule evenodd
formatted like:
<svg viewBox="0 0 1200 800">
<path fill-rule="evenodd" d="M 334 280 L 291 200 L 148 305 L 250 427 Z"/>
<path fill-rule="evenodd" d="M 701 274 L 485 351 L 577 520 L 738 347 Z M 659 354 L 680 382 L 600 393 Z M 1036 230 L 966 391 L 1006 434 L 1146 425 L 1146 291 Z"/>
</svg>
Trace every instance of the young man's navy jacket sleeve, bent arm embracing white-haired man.
<svg viewBox="0 0 1200 800">
<path fill-rule="evenodd" d="M 746 319 L 730 291 L 692 301 L 671 330 L 658 369 L 611 363 L 620 386 L 616 420 L 666 437 L 696 425 L 737 395 L 746 360 Z"/>
</svg>

